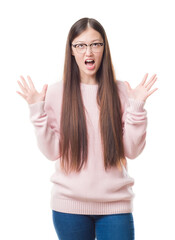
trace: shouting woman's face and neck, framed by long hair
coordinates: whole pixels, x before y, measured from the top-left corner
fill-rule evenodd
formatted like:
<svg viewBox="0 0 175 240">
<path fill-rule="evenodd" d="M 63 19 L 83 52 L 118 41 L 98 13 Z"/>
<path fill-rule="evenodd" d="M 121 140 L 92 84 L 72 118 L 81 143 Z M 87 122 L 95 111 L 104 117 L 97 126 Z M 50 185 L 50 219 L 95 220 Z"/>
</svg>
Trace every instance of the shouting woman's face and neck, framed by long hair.
<svg viewBox="0 0 175 240">
<path fill-rule="evenodd" d="M 103 38 L 99 32 L 91 27 L 88 27 L 84 32 L 82 32 L 78 37 L 74 38 L 72 44 L 91 44 L 91 43 L 104 43 Z M 80 48 L 82 45 L 80 45 Z M 77 49 L 72 46 L 72 55 L 74 55 L 76 63 L 80 70 L 81 78 L 93 78 L 95 79 L 96 72 L 98 71 L 102 56 L 103 56 L 104 46 L 94 50 L 91 47 L 87 47 L 85 52 L 77 52 Z M 96 52 L 97 51 L 97 52 Z M 87 59 L 94 60 L 94 63 L 87 63 Z"/>
</svg>

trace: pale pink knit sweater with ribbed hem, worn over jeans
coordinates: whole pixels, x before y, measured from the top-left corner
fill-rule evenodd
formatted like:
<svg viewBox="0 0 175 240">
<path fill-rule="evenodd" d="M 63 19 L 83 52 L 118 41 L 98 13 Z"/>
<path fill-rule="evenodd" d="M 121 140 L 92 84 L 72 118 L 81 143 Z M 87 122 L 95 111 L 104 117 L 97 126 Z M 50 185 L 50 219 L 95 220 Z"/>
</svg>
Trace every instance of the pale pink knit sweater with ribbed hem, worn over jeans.
<svg viewBox="0 0 175 240">
<path fill-rule="evenodd" d="M 145 102 L 128 98 L 124 82 L 118 81 L 122 103 L 123 142 L 125 156 L 136 158 L 145 146 L 147 112 Z M 99 110 L 96 94 L 98 85 L 80 83 L 89 132 L 87 167 L 80 173 L 66 176 L 60 170 L 59 124 L 63 93 L 63 81 L 51 84 L 45 101 L 30 104 L 30 120 L 33 123 L 37 144 L 44 156 L 55 161 L 51 176 L 51 209 L 76 214 L 114 214 L 133 211 L 134 179 L 127 172 L 113 167 L 107 172 L 103 167 L 102 146 L 98 131 Z"/>
</svg>

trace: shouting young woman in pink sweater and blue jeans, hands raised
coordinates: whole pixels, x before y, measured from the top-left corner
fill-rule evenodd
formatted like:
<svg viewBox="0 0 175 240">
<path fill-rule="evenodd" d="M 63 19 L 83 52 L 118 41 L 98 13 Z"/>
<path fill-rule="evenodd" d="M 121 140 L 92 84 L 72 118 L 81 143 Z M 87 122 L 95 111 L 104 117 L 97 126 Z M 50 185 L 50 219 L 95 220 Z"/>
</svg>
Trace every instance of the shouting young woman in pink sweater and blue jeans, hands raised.
<svg viewBox="0 0 175 240">
<path fill-rule="evenodd" d="M 134 179 L 127 160 L 144 149 L 144 104 L 156 74 L 132 89 L 116 80 L 103 26 L 82 18 L 71 27 L 63 80 L 39 93 L 18 81 L 40 151 L 55 162 L 53 223 L 60 240 L 133 240 Z"/>
</svg>

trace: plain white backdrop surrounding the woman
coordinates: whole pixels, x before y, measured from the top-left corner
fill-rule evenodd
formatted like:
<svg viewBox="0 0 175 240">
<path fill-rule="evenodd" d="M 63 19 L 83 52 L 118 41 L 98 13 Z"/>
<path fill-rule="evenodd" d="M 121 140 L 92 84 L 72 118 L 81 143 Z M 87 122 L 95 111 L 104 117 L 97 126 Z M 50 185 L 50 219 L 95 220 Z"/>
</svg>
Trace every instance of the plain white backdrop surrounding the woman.
<svg viewBox="0 0 175 240">
<path fill-rule="evenodd" d="M 50 209 L 55 163 L 37 147 L 17 80 L 30 75 L 38 91 L 60 81 L 68 31 L 82 17 L 105 28 L 117 79 L 135 88 L 145 73 L 148 80 L 157 74 L 158 90 L 145 104 L 146 147 L 128 159 L 135 239 L 175 239 L 174 11 L 173 0 L 0 2 L 0 239 L 57 239 Z"/>
</svg>

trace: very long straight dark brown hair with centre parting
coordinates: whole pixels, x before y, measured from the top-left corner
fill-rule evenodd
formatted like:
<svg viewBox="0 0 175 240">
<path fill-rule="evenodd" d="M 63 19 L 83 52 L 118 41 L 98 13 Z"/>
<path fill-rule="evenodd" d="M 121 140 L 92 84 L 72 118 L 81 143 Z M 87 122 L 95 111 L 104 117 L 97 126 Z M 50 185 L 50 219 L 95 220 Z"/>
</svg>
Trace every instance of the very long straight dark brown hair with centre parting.
<svg viewBox="0 0 175 240">
<path fill-rule="evenodd" d="M 61 168 L 79 172 L 88 158 L 86 117 L 80 88 L 80 72 L 71 54 L 72 41 L 91 27 L 98 31 L 105 43 L 101 65 L 96 73 L 97 103 L 100 108 L 100 132 L 105 170 L 126 161 L 123 147 L 121 102 L 112 65 L 108 39 L 103 26 L 93 18 L 75 22 L 68 34 L 63 72 L 63 99 L 60 119 Z"/>
</svg>

